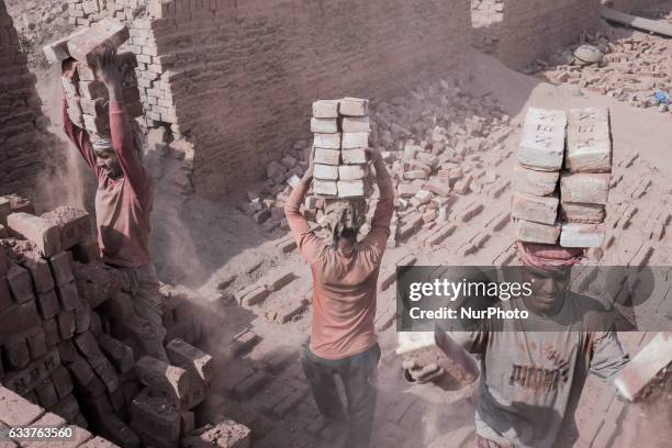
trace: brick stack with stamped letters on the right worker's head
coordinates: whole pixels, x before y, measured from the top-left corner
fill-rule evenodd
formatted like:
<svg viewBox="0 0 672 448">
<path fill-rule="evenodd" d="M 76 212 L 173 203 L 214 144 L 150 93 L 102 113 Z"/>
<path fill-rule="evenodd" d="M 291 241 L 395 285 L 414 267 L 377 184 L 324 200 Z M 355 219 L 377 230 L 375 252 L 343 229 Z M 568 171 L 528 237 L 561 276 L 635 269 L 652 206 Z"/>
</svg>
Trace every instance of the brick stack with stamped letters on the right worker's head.
<svg viewBox="0 0 672 448">
<path fill-rule="evenodd" d="M 608 109 L 572 109 L 568 120 L 563 111 L 530 108 L 518 163 L 512 212 L 517 239 L 601 247 L 612 171 Z"/>
</svg>

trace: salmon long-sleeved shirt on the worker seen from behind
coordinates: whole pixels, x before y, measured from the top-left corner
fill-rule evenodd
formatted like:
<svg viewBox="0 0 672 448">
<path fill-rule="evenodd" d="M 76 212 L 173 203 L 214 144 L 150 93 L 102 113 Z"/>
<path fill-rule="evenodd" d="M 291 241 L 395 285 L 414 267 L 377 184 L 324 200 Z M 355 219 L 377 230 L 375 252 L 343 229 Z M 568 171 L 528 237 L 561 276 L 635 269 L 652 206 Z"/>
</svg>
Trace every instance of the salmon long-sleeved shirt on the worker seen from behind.
<svg viewBox="0 0 672 448">
<path fill-rule="evenodd" d="M 382 255 L 390 236 L 393 198 L 381 198 L 371 231 L 345 256 L 311 231 L 300 208 L 307 192 L 299 183 L 284 213 L 299 251 L 313 273 L 311 350 L 324 359 L 344 359 L 376 345 L 376 296 Z"/>
</svg>

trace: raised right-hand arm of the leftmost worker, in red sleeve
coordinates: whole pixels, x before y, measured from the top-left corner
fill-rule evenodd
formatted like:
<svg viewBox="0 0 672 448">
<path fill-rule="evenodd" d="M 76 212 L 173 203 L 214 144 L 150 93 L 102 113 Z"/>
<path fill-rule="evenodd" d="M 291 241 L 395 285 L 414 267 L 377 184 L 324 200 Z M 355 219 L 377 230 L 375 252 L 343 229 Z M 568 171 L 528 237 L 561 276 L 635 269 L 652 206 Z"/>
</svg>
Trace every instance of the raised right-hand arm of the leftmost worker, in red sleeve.
<svg viewBox="0 0 672 448">
<path fill-rule="evenodd" d="M 133 144 L 133 132 L 126 114 L 123 98 L 124 74 L 116 67 L 115 53 L 107 48 L 98 58 L 96 74 L 105 85 L 110 94 L 110 133 L 112 145 L 119 159 L 124 177 L 136 194 L 145 191 L 148 184 L 148 175 L 145 172 Z"/>
</svg>

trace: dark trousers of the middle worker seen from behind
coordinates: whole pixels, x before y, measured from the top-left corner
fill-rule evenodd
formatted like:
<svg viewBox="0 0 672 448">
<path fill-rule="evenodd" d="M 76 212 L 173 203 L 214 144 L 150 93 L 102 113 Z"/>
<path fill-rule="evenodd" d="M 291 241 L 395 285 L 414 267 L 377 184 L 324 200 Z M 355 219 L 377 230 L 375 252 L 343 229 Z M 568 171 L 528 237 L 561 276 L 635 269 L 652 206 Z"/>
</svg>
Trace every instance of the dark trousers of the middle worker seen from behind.
<svg viewBox="0 0 672 448">
<path fill-rule="evenodd" d="M 347 422 L 348 437 L 344 446 L 348 448 L 369 446 L 378 395 L 379 361 L 378 344 L 361 354 L 338 360 L 320 358 L 307 346 L 303 350 L 301 365 L 311 383 L 317 408 L 328 419 Z M 335 377 L 343 382 L 348 402 L 347 413 L 338 395 Z"/>
</svg>

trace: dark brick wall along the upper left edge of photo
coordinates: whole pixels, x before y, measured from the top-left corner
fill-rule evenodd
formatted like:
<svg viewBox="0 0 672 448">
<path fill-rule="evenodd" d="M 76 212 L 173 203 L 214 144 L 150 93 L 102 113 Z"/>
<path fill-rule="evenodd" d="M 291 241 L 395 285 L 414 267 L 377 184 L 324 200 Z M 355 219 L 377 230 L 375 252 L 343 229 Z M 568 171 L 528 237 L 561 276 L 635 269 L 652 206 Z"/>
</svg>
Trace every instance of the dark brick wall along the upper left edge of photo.
<svg viewBox="0 0 672 448">
<path fill-rule="evenodd" d="M 46 145 L 41 136 L 47 123 L 26 61 L 0 0 L 0 194 L 29 193 L 45 169 Z"/>
</svg>

